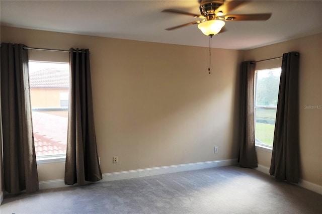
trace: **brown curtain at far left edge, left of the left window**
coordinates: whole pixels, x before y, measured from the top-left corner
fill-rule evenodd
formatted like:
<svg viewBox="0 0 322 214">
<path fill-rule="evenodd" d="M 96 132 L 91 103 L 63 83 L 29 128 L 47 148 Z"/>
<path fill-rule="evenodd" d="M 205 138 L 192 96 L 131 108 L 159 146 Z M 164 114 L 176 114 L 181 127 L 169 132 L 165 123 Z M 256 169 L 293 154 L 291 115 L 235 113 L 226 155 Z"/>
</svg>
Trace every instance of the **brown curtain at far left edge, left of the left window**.
<svg viewBox="0 0 322 214">
<path fill-rule="evenodd" d="M 28 51 L 1 44 L 1 105 L 5 190 L 39 189 L 29 91 Z"/>
</svg>

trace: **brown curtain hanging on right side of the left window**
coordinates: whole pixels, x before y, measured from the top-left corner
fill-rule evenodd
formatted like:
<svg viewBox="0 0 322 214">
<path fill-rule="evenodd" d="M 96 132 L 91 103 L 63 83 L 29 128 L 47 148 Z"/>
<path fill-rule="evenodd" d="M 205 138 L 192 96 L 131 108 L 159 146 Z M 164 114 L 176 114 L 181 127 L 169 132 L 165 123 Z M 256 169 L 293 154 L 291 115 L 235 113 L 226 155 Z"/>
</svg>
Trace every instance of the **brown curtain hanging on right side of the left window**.
<svg viewBox="0 0 322 214">
<path fill-rule="evenodd" d="M 102 179 L 94 128 L 89 49 L 69 53 L 69 113 L 65 184 Z"/>
</svg>

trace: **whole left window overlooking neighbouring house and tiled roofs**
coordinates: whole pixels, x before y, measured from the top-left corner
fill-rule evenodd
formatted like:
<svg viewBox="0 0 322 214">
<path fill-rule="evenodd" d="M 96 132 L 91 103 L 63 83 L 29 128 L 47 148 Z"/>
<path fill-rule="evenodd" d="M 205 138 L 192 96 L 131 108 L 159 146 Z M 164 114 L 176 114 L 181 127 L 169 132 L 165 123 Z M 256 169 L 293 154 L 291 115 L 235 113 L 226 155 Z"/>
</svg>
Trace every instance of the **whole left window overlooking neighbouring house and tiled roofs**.
<svg viewBox="0 0 322 214">
<path fill-rule="evenodd" d="M 32 122 L 37 161 L 66 155 L 68 63 L 29 61 Z"/>
</svg>

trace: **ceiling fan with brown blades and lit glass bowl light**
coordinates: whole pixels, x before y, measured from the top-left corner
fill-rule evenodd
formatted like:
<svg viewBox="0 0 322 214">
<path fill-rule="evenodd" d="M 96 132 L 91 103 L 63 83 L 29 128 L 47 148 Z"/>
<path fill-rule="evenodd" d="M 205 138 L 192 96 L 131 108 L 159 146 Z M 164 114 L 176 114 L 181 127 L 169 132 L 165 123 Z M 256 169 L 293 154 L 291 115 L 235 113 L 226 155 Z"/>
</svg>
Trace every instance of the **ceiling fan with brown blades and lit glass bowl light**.
<svg viewBox="0 0 322 214">
<path fill-rule="evenodd" d="M 200 4 L 200 14 L 193 14 L 185 11 L 180 11 L 176 9 L 166 9 L 162 12 L 175 13 L 181 15 L 192 16 L 198 21 L 186 23 L 183 25 L 178 25 L 175 27 L 167 28 L 166 30 L 175 30 L 178 28 L 186 27 L 189 25 L 198 24 L 198 28 L 206 36 L 212 37 L 218 33 L 226 31 L 223 27 L 225 22 L 231 21 L 266 21 L 271 17 L 271 13 L 265 14 L 242 14 L 242 15 L 227 15 L 230 11 L 235 8 L 249 2 L 249 1 L 208 1 L 208 0 L 198 0 Z"/>
</svg>

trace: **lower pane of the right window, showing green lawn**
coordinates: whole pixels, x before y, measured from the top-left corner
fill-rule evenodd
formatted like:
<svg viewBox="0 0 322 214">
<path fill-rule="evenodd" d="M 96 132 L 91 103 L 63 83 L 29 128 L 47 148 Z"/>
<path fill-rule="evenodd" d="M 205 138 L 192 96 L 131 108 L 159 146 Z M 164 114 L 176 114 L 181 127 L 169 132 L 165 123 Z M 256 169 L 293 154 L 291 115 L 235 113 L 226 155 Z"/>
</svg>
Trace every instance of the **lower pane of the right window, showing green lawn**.
<svg viewBox="0 0 322 214">
<path fill-rule="evenodd" d="M 276 109 L 255 109 L 256 143 L 273 146 Z"/>
</svg>

